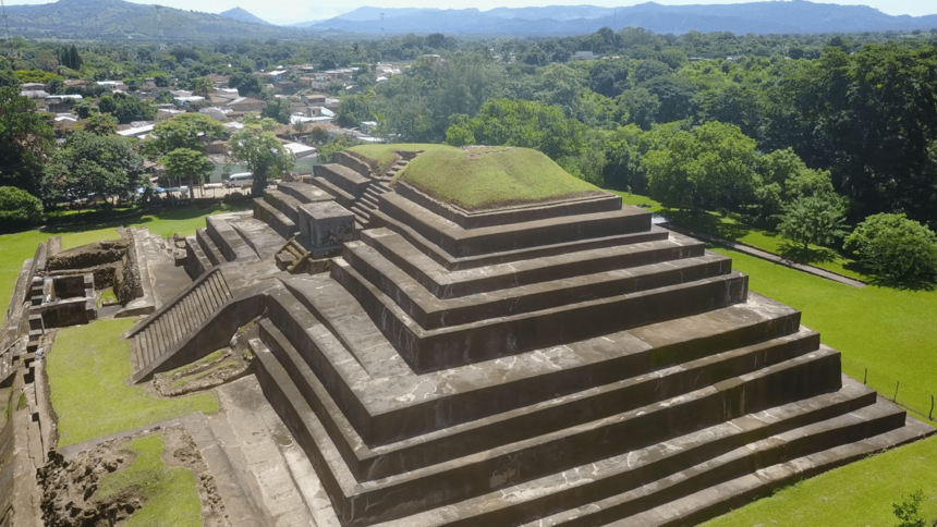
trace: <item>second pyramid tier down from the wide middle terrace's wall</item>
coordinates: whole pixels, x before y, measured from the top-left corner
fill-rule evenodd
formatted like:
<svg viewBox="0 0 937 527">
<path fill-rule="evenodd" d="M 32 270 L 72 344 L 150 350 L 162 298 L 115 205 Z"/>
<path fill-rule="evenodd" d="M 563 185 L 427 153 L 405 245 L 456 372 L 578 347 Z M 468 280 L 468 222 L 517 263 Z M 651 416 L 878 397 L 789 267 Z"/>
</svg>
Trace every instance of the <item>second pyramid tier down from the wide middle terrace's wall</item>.
<svg viewBox="0 0 937 527">
<path fill-rule="evenodd" d="M 451 505 L 571 469 L 579 464 L 591 465 L 612 455 L 626 454 L 629 450 L 642 448 L 636 444 L 646 440 L 657 438 L 657 441 L 666 441 L 673 434 L 702 430 L 727 419 L 742 417 L 745 412 L 741 410 L 740 406 L 746 391 L 764 394 L 763 402 L 766 405 L 786 404 L 783 399 L 787 396 L 781 396 L 777 402 L 772 401 L 780 392 L 774 388 L 788 382 L 803 387 L 795 379 L 813 368 L 810 361 L 832 363 L 828 357 L 835 357 L 837 364 L 829 364 L 832 368 L 824 369 L 836 375 L 837 387 L 825 388 L 836 391 L 840 384 L 838 355 L 817 357 L 811 354 L 808 358 L 795 359 L 800 361 L 798 366 L 779 368 L 764 376 L 746 376 L 745 380 L 738 379 L 731 385 L 723 383 L 721 389 L 707 388 L 698 393 L 699 399 L 680 397 L 648 408 L 652 412 L 638 410 L 630 417 L 616 416 L 555 436 L 512 443 L 485 454 L 452 459 L 362 485 L 340 457 L 340 452 L 331 442 L 325 426 L 305 402 L 285 369 L 258 341 L 252 341 L 252 345 L 260 361 L 258 380 L 261 388 L 284 422 L 292 428 L 301 446 L 314 459 L 314 466 L 319 467 L 320 480 L 326 486 L 340 519 L 346 525 L 369 525 Z M 763 371 L 767 370 L 771 368 Z M 713 412 L 704 410 L 704 417 L 697 418 L 703 410 L 699 405 L 711 407 Z M 644 439 L 638 439 L 641 434 L 633 433 L 635 427 L 646 428 L 649 433 Z M 400 501 L 392 498 L 394 495 L 426 498 L 409 502 L 411 508 L 407 508 L 401 507 Z"/>
</svg>

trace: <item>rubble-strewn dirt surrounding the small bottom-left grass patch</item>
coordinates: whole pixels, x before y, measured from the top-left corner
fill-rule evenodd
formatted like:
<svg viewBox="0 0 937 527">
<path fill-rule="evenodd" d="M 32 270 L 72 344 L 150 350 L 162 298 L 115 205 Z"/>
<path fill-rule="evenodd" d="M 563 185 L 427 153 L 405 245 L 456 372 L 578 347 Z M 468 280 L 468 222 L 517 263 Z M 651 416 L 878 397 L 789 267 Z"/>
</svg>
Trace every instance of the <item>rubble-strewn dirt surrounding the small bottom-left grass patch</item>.
<svg viewBox="0 0 937 527">
<path fill-rule="evenodd" d="M 42 519 L 57 526 L 123 526 L 134 513 L 146 505 L 136 486 L 122 489 L 106 499 L 98 499 L 101 478 L 125 470 L 135 454 L 123 449 L 130 441 L 160 432 L 166 442 L 162 459 L 170 467 L 183 467 L 193 473 L 202 502 L 202 518 L 206 527 L 229 526 L 224 504 L 218 494 L 215 478 L 202 459 L 198 448 L 184 427 L 138 432 L 131 437 L 100 443 L 92 451 L 65 461 L 58 452 L 49 454 L 49 463 L 39 468 L 37 480 L 42 488 Z"/>
</svg>

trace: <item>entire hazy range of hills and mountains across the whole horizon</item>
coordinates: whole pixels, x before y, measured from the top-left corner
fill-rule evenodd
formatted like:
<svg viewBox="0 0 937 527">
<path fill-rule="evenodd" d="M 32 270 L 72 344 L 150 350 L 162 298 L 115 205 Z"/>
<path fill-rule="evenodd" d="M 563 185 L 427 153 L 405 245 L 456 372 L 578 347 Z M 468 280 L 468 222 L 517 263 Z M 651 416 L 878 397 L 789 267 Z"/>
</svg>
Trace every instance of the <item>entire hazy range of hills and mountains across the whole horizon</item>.
<svg viewBox="0 0 937 527">
<path fill-rule="evenodd" d="M 448 35 L 581 35 L 608 26 L 643 27 L 655 33 L 732 32 L 737 35 L 929 30 L 937 14 L 891 16 L 865 5 L 813 3 L 804 0 L 725 5 L 629 8 L 550 5 L 442 10 L 358 8 L 326 21 L 290 27 L 268 24 L 234 8 L 221 14 L 161 9 L 123 0 L 59 0 L 37 5 L 8 5 L 10 32 L 27 38 L 154 41 L 162 29 L 167 42 L 302 38 L 323 33 Z M 381 15 L 382 19 L 381 20 Z"/>
</svg>

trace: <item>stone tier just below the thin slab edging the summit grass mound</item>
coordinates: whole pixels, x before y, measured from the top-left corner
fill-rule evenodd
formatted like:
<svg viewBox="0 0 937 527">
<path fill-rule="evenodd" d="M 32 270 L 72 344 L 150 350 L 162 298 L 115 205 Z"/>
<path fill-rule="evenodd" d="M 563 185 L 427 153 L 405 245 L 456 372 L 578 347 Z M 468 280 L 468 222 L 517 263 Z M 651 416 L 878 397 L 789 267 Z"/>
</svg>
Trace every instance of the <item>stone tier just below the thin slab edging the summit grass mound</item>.
<svg viewBox="0 0 937 527">
<path fill-rule="evenodd" d="M 548 218 L 507 225 L 463 229 L 397 193 L 380 197 L 380 211 L 419 233 L 453 258 L 647 232 L 650 213 L 637 207 L 575 217 Z M 388 224 L 389 228 L 392 224 Z M 396 230 L 396 229 L 394 229 Z"/>
</svg>

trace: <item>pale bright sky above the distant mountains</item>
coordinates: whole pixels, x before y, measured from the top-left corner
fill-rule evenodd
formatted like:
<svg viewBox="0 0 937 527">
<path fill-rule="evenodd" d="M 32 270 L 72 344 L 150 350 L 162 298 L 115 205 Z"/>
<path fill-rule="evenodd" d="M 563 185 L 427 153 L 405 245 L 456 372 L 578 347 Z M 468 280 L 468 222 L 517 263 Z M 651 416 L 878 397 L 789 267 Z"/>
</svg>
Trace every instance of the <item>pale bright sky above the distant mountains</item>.
<svg viewBox="0 0 937 527">
<path fill-rule="evenodd" d="M 130 0 L 134 3 L 153 4 L 154 0 Z M 479 10 L 489 10 L 494 8 L 526 8 L 538 7 L 545 4 L 569 4 L 587 3 L 591 5 L 599 5 L 604 8 L 628 7 L 644 3 L 646 0 L 593 0 L 586 2 L 559 2 L 551 0 L 544 2 L 543 0 L 449 0 L 447 8 L 450 9 L 466 9 L 476 8 Z M 657 3 L 665 5 L 687 5 L 687 4 L 727 4 L 740 3 L 752 0 L 656 0 Z M 937 2 L 934 0 L 864 0 L 864 1 L 826 1 L 813 0 L 823 3 L 838 3 L 842 5 L 868 5 L 890 15 L 908 14 L 912 16 L 923 16 L 926 14 L 937 14 Z M 5 2 L 8 5 L 13 4 L 36 4 L 50 3 L 50 0 L 13 0 Z M 191 0 L 159 0 L 161 5 L 175 9 L 192 9 Z M 228 11 L 231 8 L 240 7 L 252 14 L 264 19 L 272 24 L 295 24 L 297 22 L 306 22 L 313 20 L 326 20 L 339 14 L 346 13 L 363 5 L 373 5 L 380 8 L 438 8 L 439 2 L 435 0 L 350 0 L 336 4 L 336 2 L 326 0 L 202 0 L 198 2 L 198 11 L 208 13 L 220 13 Z"/>
</svg>

